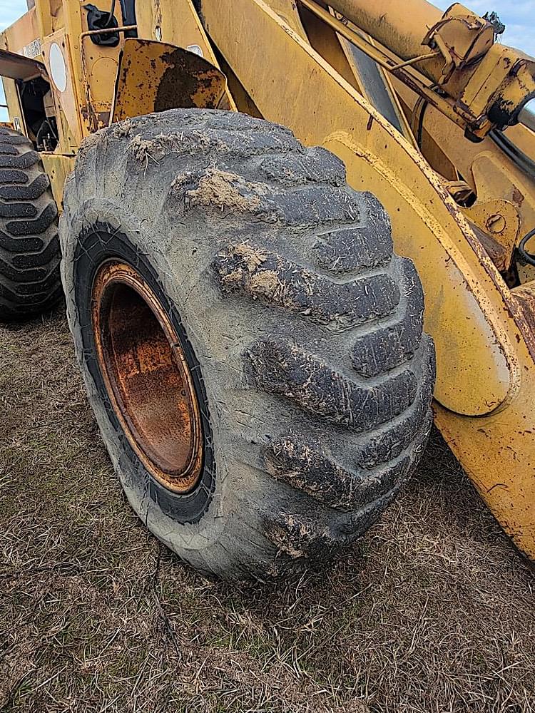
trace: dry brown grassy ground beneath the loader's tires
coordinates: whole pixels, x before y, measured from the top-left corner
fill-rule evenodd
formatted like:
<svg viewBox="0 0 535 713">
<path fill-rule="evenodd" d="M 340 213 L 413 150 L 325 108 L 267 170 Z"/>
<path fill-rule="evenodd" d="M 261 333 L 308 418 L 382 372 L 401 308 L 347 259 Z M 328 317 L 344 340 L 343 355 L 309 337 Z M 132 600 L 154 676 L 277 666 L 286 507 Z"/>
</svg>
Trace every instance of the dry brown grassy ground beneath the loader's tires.
<svg viewBox="0 0 535 713">
<path fill-rule="evenodd" d="M 437 434 L 342 562 L 237 587 L 128 508 L 61 310 L 0 329 L 0 414 L 1 711 L 535 711 L 535 580 Z"/>
</svg>

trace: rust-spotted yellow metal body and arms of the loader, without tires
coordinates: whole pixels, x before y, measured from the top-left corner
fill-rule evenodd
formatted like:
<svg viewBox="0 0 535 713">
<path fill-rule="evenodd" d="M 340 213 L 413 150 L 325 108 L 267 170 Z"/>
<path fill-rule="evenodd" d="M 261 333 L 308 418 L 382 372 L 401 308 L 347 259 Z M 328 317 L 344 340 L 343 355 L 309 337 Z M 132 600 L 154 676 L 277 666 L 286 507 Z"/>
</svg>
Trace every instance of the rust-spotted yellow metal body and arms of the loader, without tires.
<svg viewBox="0 0 535 713">
<path fill-rule="evenodd" d="M 78 0 L 36 0 L 0 36 L 0 48 L 21 56 L 19 76 L 4 77 L 11 122 L 32 136 L 20 88 L 34 58 L 49 77 L 46 111 L 58 127 L 53 150 L 41 151 L 58 205 L 84 138 L 173 101 L 262 116 L 340 157 L 350 185 L 387 209 L 395 249 L 422 279 L 424 327 L 437 349 L 436 424 L 533 559 L 535 268 L 519 264 L 516 250 L 535 227 L 535 175 L 492 136 L 500 122 L 515 124 L 503 135 L 535 160 L 535 134 L 520 116 L 535 89 L 535 61 L 495 43 L 489 22 L 462 6 L 448 16 L 413 0 L 399 27 L 398 3 L 332 5 L 147 0 L 135 25 L 121 4 L 116 26 L 98 30 Z M 113 46 L 93 42 L 106 34 L 117 38 Z M 185 76 L 208 72 L 209 92 L 188 92 L 183 82 L 157 99 L 170 46 L 186 50 Z M 389 118 L 374 106 L 365 55 Z M 195 64 L 199 56 L 213 73 Z"/>
</svg>

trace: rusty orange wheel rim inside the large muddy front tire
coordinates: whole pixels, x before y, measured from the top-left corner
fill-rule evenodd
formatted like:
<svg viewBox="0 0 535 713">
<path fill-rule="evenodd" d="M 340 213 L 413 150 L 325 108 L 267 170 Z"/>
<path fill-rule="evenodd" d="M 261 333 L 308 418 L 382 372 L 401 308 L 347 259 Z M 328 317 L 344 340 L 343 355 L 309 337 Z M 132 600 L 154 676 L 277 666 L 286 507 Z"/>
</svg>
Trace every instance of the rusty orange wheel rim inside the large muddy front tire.
<svg viewBox="0 0 535 713">
<path fill-rule="evenodd" d="M 156 294 L 130 265 L 96 273 L 91 319 L 113 411 L 148 472 L 188 493 L 203 469 L 203 429 L 178 333 Z"/>
</svg>

